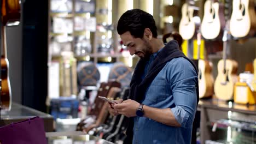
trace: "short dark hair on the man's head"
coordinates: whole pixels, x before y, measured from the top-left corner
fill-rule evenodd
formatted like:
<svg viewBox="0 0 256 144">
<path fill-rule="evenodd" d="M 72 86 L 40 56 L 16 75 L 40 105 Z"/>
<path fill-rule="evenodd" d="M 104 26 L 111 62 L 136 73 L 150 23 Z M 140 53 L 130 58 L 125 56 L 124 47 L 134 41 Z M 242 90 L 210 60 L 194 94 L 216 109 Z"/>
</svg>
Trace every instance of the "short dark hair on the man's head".
<svg viewBox="0 0 256 144">
<path fill-rule="evenodd" d="M 129 31 L 133 37 L 143 38 L 145 28 L 150 29 L 154 38 L 158 37 L 153 16 L 141 9 L 132 9 L 121 15 L 117 31 L 119 35 Z"/>
</svg>

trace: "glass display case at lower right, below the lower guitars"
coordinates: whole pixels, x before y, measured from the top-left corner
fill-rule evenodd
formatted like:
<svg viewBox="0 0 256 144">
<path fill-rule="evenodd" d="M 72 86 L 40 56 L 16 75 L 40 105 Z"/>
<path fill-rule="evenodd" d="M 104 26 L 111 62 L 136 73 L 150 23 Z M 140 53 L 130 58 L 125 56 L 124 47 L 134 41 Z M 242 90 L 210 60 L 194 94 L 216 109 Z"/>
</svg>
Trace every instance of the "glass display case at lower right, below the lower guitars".
<svg viewBox="0 0 256 144">
<path fill-rule="evenodd" d="M 200 100 L 201 143 L 256 143 L 256 106 Z"/>
</svg>

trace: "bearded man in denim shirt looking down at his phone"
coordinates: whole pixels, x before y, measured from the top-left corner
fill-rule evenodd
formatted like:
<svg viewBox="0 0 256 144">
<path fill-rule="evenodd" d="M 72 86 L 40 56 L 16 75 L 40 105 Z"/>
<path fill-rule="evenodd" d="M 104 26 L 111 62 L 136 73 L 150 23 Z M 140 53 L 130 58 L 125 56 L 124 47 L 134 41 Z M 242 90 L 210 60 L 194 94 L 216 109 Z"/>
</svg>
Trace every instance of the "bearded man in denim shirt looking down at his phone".
<svg viewBox="0 0 256 144">
<path fill-rule="evenodd" d="M 110 114 L 130 117 L 125 143 L 190 143 L 198 102 L 195 65 L 176 40 L 164 45 L 156 38 L 153 16 L 143 10 L 126 11 L 117 31 L 130 54 L 141 58 L 129 99 L 109 105 Z"/>
</svg>

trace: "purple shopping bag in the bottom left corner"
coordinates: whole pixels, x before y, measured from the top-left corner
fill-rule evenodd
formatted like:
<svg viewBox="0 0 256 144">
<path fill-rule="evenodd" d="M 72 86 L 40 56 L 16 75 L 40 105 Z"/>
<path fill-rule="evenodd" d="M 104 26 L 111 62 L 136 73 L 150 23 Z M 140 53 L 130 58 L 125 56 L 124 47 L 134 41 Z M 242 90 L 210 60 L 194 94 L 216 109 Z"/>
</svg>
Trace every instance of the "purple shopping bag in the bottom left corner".
<svg viewBox="0 0 256 144">
<path fill-rule="evenodd" d="M 46 144 L 43 119 L 33 117 L 0 128 L 1 144 Z"/>
</svg>

